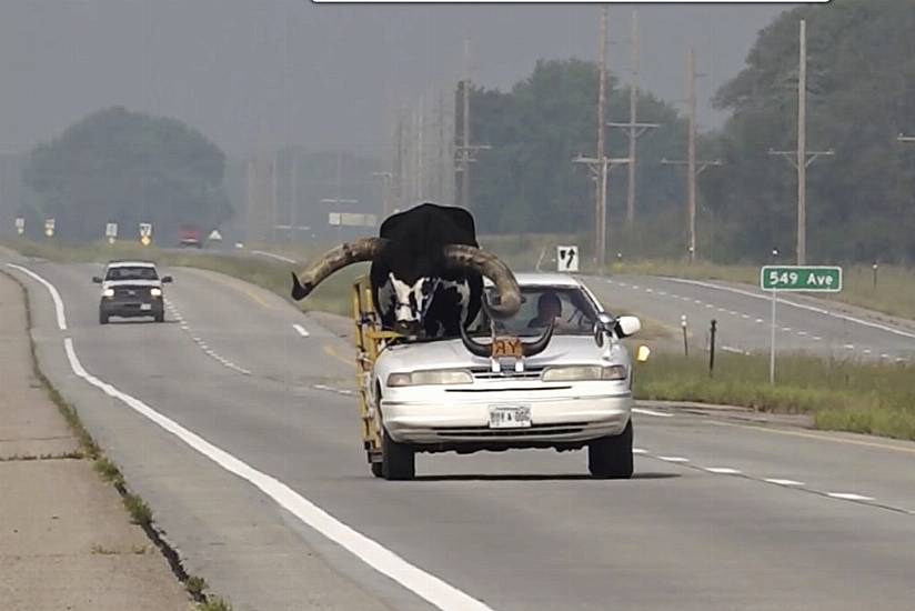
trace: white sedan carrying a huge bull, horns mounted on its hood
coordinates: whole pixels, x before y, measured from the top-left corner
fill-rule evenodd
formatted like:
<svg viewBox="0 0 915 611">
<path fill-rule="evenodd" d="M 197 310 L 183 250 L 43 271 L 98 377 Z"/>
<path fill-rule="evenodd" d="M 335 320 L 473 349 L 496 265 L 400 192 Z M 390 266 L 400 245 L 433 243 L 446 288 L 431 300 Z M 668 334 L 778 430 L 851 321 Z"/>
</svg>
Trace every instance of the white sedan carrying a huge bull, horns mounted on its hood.
<svg viewBox="0 0 915 611">
<path fill-rule="evenodd" d="M 593 475 L 632 475 L 633 370 L 620 339 L 639 331 L 639 319 L 605 312 L 572 277 L 516 278 L 521 310 L 497 321 L 496 337 L 536 340 L 557 314 L 541 353 L 507 360 L 473 354 L 470 339 L 492 350 L 484 314 L 472 338 L 394 343 L 381 351 L 369 390 L 382 431 L 376 474 L 412 479 L 415 452 L 587 447 Z M 561 311 L 545 311 L 556 304 Z"/>
</svg>

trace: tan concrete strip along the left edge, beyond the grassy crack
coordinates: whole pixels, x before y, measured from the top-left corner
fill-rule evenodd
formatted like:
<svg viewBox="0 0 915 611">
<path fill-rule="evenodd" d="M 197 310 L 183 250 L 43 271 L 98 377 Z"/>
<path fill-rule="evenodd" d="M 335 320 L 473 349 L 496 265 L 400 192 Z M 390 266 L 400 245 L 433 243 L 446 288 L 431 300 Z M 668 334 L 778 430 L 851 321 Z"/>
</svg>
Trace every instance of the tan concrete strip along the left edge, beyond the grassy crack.
<svg viewBox="0 0 915 611">
<path fill-rule="evenodd" d="M 22 289 L 0 274 L 3 609 L 189 609 L 165 559 L 36 378 L 26 327 Z"/>
</svg>

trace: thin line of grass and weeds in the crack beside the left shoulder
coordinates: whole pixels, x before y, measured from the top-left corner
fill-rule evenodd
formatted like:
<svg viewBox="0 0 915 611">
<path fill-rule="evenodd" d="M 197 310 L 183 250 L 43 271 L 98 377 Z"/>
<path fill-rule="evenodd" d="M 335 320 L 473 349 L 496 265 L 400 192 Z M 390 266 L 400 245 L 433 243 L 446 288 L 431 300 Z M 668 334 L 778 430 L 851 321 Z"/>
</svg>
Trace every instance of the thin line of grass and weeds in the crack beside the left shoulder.
<svg viewBox="0 0 915 611">
<path fill-rule="evenodd" d="M 2 270 L 0 270 L 0 273 L 4 274 L 7 278 L 16 282 L 21 289 L 22 302 L 26 308 L 26 329 L 29 335 L 29 352 L 32 361 L 32 373 L 41 383 L 42 388 L 48 394 L 48 398 L 58 408 L 58 411 L 67 421 L 68 427 L 77 438 L 77 442 L 79 443 L 80 450 L 78 452 L 73 452 L 72 458 L 77 458 L 78 455 L 80 459 L 91 460 L 93 463 L 92 468 L 94 469 L 95 473 L 98 473 L 99 477 L 102 479 L 102 481 L 110 483 L 114 487 L 114 489 L 121 495 L 124 509 L 130 514 L 133 523 L 140 525 L 140 528 L 143 529 L 143 532 L 147 534 L 149 540 L 159 549 L 162 555 L 165 557 L 165 560 L 168 561 L 172 573 L 184 585 L 184 589 L 188 591 L 188 594 L 194 601 L 199 611 L 232 611 L 232 605 L 228 601 L 219 597 L 213 597 L 212 594 L 205 593 L 204 590 L 208 587 L 203 578 L 189 574 L 184 570 L 184 565 L 181 562 L 181 558 L 178 555 L 178 552 L 163 539 L 162 533 L 155 528 L 152 521 L 152 510 L 150 509 L 149 504 L 140 495 L 131 492 L 130 488 L 124 481 L 124 477 L 121 470 L 118 468 L 114 461 L 104 455 L 104 452 L 102 452 L 99 444 L 95 443 L 95 440 L 92 439 L 92 435 L 89 433 L 88 430 L 86 430 L 86 427 L 82 424 L 82 421 L 80 420 L 77 409 L 63 398 L 63 395 L 60 393 L 60 391 L 57 390 L 57 388 L 54 388 L 54 385 L 51 383 L 48 377 L 44 375 L 44 372 L 41 371 L 41 368 L 39 367 L 38 362 L 38 352 L 36 349 L 34 339 L 31 334 L 32 310 L 28 288 L 17 277 L 12 276 L 11 273 L 8 273 Z M 108 552 L 108 550 L 103 550 L 101 548 L 99 548 L 98 550 L 93 548 L 92 551 L 93 553 Z M 145 551 L 143 551 L 142 553 L 145 553 Z"/>
</svg>

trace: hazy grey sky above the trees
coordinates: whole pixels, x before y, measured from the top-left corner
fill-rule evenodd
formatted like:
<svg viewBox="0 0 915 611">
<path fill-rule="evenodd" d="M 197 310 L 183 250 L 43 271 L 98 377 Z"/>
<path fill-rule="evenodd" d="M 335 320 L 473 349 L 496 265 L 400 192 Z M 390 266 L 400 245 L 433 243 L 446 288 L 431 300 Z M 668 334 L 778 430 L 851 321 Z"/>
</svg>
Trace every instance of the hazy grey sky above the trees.
<svg viewBox="0 0 915 611">
<path fill-rule="evenodd" d="M 643 6 L 643 86 L 675 100 L 695 44 L 700 122 L 756 31 L 784 6 Z M 172 116 L 228 153 L 288 143 L 372 152 L 388 100 L 461 73 L 506 88 L 539 58 L 594 58 L 599 7 L 331 6 L 309 0 L 0 0 L 0 151 L 24 151 L 100 108 Z M 630 6 L 611 9 L 611 70 L 629 66 Z"/>
</svg>

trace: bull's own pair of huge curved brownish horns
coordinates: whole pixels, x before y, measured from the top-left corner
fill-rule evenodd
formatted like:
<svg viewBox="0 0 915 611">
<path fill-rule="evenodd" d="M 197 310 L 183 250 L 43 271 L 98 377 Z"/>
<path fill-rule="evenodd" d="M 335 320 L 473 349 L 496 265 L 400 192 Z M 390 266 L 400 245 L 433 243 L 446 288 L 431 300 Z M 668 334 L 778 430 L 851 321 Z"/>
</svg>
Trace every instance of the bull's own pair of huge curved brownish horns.
<svg viewBox="0 0 915 611">
<path fill-rule="evenodd" d="M 383 254 L 391 242 L 384 238 L 363 238 L 351 243 L 341 244 L 321 257 L 301 274 L 292 273 L 292 299 L 302 300 L 318 284 L 334 272 L 363 261 L 372 261 Z M 441 253 L 450 269 L 475 271 L 493 281 L 499 290 L 499 304 L 491 304 L 489 310 L 497 318 L 513 315 L 521 308 L 521 289 L 509 267 L 494 254 L 476 247 L 448 244 Z"/>
</svg>

